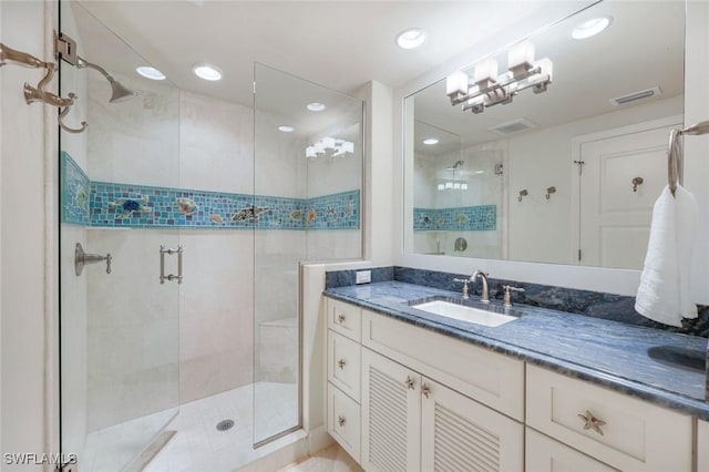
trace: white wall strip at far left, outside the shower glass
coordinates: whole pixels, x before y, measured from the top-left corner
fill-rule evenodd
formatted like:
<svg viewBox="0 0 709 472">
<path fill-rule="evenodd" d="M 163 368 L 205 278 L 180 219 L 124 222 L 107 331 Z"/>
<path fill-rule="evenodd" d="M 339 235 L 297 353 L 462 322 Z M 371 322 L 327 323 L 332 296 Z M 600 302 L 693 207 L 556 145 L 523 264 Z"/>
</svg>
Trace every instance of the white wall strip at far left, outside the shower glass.
<svg viewBox="0 0 709 472">
<path fill-rule="evenodd" d="M 48 7 L 52 3 L 48 2 Z M 51 31 L 45 21 L 51 23 L 52 18 L 51 11 L 45 12 L 45 2 L 2 1 L 0 18 L 3 43 L 40 58 L 48 57 Z M 42 453 L 55 439 L 55 431 L 51 430 L 55 425 L 54 411 L 45 402 L 45 392 L 48 399 L 55 393 L 54 386 L 47 382 L 51 378 L 45 381 L 45 369 L 53 369 L 55 360 L 54 355 L 45 357 L 45 346 L 55 347 L 50 339 L 53 335 L 45 332 L 53 326 L 51 300 L 55 294 L 53 288 L 45 287 L 45 277 L 55 280 L 48 273 L 51 269 L 45 270 L 45 257 L 54 254 L 53 247 L 45 246 L 45 232 L 53 232 L 55 208 L 45 206 L 45 195 L 51 195 L 53 188 L 45 189 L 44 168 L 45 158 L 55 156 L 52 146 L 55 134 L 43 120 L 47 116 L 53 121 L 56 112 L 45 105 L 27 105 L 22 96 L 22 83 L 37 84 L 42 74 L 43 71 L 14 65 L 0 70 L 2 453 Z M 39 471 L 42 466 L 2 464 L 2 470 Z"/>
</svg>

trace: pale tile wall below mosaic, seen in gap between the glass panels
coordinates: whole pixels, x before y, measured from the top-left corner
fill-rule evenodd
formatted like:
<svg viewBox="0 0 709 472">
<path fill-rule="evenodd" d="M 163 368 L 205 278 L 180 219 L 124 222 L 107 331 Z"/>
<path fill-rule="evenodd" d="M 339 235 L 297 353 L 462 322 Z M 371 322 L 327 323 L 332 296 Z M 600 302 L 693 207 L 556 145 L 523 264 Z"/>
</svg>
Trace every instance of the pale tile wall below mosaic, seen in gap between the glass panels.
<svg viewBox="0 0 709 472">
<path fill-rule="evenodd" d="M 254 239 L 249 230 L 183 229 L 181 402 L 251 383 Z"/>
</svg>

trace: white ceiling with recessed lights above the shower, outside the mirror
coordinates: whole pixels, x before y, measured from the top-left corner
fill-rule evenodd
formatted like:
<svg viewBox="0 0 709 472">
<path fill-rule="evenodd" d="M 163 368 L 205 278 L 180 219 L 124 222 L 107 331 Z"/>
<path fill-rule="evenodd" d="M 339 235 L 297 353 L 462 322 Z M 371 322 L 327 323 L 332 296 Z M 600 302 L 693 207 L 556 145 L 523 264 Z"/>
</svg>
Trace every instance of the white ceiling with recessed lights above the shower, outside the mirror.
<svg viewBox="0 0 709 472">
<path fill-rule="evenodd" d="M 80 3 L 179 89 L 247 105 L 255 62 L 342 92 L 370 80 L 398 86 L 548 6 L 530 0 Z M 404 51 L 394 38 L 411 27 L 423 28 L 428 40 Z M 102 41 L 90 33 L 81 40 L 94 62 L 134 74 Z M 224 80 L 195 78 L 192 66 L 202 62 L 219 66 Z"/>
</svg>

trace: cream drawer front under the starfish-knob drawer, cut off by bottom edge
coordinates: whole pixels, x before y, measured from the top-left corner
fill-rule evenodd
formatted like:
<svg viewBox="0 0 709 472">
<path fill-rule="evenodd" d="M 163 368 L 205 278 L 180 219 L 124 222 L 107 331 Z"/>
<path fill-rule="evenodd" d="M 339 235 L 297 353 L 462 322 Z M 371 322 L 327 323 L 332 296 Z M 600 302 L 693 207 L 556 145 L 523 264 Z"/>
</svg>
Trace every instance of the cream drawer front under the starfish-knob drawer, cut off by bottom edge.
<svg viewBox="0 0 709 472">
<path fill-rule="evenodd" d="M 533 472 L 617 472 L 575 449 L 527 428 L 526 470 Z"/>
</svg>

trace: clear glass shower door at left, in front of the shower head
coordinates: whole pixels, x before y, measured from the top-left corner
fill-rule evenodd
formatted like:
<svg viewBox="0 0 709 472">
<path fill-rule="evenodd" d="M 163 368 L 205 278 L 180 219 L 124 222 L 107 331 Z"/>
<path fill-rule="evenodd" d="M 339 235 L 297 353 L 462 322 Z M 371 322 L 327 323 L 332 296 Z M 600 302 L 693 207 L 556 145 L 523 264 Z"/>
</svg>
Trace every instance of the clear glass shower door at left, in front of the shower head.
<svg viewBox="0 0 709 472">
<path fill-rule="evenodd" d="M 191 207 L 178 90 L 137 75 L 148 63 L 81 4 L 62 1 L 60 24 L 79 54 L 60 71 L 78 95 L 60 131 L 61 448 L 79 470 L 119 471 L 178 409 L 179 285 L 160 278 L 161 257 L 178 275 L 161 245 L 179 247 Z"/>
</svg>

